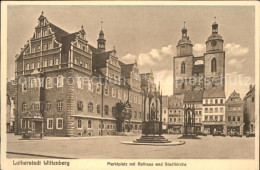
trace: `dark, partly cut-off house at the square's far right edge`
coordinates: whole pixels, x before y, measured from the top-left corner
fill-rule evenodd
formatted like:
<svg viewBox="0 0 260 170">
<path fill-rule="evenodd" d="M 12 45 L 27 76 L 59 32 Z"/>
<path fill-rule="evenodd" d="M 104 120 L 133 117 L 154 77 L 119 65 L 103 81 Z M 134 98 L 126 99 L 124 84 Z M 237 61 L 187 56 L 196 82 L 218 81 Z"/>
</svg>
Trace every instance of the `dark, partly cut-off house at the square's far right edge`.
<svg viewBox="0 0 260 170">
<path fill-rule="evenodd" d="M 244 103 L 244 132 L 255 133 L 255 86 L 250 85 L 249 91 L 243 99 Z"/>
</svg>

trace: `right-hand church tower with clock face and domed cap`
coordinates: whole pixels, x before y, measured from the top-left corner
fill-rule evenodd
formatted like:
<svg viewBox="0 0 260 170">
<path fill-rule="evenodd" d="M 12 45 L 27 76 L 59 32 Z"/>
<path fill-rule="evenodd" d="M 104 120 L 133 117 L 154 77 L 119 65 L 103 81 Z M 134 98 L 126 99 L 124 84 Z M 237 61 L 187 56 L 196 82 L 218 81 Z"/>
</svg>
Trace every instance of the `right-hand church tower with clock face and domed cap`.
<svg viewBox="0 0 260 170">
<path fill-rule="evenodd" d="M 212 24 L 212 34 L 206 41 L 205 53 L 205 89 L 225 89 L 225 51 L 223 51 L 224 40 L 218 34 L 218 24 Z"/>
</svg>

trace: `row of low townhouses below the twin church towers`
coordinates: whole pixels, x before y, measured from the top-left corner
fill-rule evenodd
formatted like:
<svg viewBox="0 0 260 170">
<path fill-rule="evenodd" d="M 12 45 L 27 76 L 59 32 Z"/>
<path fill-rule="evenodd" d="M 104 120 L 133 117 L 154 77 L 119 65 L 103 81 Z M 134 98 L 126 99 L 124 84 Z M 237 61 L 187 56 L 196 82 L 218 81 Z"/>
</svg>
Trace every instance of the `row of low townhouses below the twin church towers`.
<svg viewBox="0 0 260 170">
<path fill-rule="evenodd" d="M 206 101 L 203 104 L 203 96 L 198 96 L 196 101 L 194 100 L 196 132 L 212 134 L 214 131 L 220 130 L 227 135 L 255 133 L 254 91 L 255 87 L 250 85 L 250 90 L 243 100 L 240 94 L 234 91 L 224 104 L 220 104 L 217 100 L 208 100 L 208 102 L 215 102 L 215 107 L 208 107 Z M 187 102 L 182 97 L 163 96 L 163 129 L 165 133 L 184 132 L 184 105 Z M 222 115 L 216 116 L 217 114 Z"/>
</svg>

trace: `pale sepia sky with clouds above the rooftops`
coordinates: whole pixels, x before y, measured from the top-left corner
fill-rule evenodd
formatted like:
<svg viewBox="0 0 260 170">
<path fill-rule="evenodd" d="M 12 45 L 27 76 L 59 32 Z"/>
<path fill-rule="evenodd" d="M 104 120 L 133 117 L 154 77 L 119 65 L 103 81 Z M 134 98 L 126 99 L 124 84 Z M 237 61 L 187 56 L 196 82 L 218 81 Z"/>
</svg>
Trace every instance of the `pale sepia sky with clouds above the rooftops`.
<svg viewBox="0 0 260 170">
<path fill-rule="evenodd" d="M 153 70 L 164 95 L 173 93 L 173 56 L 184 21 L 194 56 L 203 55 L 216 17 L 226 52 L 226 96 L 234 90 L 243 98 L 255 84 L 254 7 L 243 6 L 9 6 L 7 23 L 8 80 L 15 73 L 15 55 L 26 44 L 41 12 L 48 21 L 69 33 L 86 31 L 96 46 L 101 21 L 107 50 L 115 46 L 118 58 L 138 63 L 139 72 Z M 242 80 L 242 83 L 235 83 Z"/>
</svg>

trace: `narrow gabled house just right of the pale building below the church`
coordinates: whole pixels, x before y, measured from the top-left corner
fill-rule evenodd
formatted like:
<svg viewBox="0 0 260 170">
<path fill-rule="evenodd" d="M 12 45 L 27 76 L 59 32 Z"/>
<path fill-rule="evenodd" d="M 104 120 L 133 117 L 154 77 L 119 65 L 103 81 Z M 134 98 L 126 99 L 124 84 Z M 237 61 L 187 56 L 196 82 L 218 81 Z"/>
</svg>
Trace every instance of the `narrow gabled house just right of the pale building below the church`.
<svg viewBox="0 0 260 170">
<path fill-rule="evenodd" d="M 226 125 L 227 135 L 244 134 L 243 101 L 235 91 L 226 101 Z"/>
</svg>

